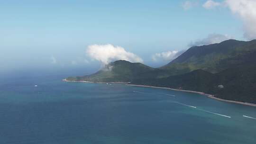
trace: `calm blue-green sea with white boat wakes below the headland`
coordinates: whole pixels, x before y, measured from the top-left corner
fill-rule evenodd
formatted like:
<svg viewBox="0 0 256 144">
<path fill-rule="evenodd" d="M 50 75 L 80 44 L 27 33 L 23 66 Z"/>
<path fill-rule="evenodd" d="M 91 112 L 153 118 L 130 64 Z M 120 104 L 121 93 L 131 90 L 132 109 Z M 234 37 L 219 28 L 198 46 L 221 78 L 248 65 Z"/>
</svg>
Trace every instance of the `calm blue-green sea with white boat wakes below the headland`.
<svg viewBox="0 0 256 144">
<path fill-rule="evenodd" d="M 256 144 L 255 107 L 60 80 L 0 83 L 0 144 Z"/>
</svg>

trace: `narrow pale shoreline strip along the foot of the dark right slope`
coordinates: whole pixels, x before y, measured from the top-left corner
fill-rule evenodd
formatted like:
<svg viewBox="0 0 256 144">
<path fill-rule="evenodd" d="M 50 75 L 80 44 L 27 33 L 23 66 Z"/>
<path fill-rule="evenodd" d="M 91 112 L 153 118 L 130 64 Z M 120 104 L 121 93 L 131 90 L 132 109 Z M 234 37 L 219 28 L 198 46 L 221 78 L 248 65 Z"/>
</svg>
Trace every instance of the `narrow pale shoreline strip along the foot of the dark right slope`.
<svg viewBox="0 0 256 144">
<path fill-rule="evenodd" d="M 173 89 L 173 88 L 155 87 L 155 86 L 137 85 L 137 84 L 126 84 L 126 85 L 129 85 L 129 86 L 137 86 L 137 87 L 148 87 L 148 88 L 155 88 L 155 89 L 166 89 L 166 90 L 176 90 L 176 91 L 184 91 L 184 92 L 198 93 L 198 94 L 201 94 L 201 95 L 207 96 L 207 97 L 208 97 L 208 98 L 210 98 L 210 99 L 216 99 L 216 100 L 220 100 L 220 101 L 224 101 L 224 102 L 236 103 L 236 104 L 242 104 L 242 105 L 247 105 L 247 106 L 256 107 L 256 104 L 254 104 L 254 103 L 241 102 L 241 101 L 235 101 L 235 100 L 227 100 L 227 99 L 220 99 L 220 98 L 216 98 L 216 97 L 214 97 L 214 95 L 207 94 L 207 93 L 200 92 L 200 91 L 179 90 L 179 89 Z"/>
</svg>

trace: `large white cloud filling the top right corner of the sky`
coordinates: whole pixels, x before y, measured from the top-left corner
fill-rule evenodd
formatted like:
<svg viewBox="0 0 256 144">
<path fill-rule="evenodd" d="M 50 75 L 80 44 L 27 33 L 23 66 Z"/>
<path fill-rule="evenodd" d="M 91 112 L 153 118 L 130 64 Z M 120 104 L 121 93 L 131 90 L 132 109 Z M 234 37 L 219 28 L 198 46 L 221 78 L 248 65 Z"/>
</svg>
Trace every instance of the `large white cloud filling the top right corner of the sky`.
<svg viewBox="0 0 256 144">
<path fill-rule="evenodd" d="M 244 23 L 244 37 L 256 38 L 256 0 L 225 0 L 233 14 L 239 16 Z"/>
</svg>

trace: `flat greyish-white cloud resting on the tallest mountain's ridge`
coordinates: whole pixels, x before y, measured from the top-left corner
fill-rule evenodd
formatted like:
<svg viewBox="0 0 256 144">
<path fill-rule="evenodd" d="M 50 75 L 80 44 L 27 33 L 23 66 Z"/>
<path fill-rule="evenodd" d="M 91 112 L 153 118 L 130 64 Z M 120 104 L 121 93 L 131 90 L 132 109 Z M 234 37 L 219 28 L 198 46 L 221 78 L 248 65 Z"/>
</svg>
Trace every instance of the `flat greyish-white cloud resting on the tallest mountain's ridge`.
<svg viewBox="0 0 256 144">
<path fill-rule="evenodd" d="M 231 38 L 232 37 L 229 35 L 209 34 L 206 38 L 198 39 L 196 41 L 191 42 L 189 46 L 210 45 L 220 43 Z"/>
</svg>

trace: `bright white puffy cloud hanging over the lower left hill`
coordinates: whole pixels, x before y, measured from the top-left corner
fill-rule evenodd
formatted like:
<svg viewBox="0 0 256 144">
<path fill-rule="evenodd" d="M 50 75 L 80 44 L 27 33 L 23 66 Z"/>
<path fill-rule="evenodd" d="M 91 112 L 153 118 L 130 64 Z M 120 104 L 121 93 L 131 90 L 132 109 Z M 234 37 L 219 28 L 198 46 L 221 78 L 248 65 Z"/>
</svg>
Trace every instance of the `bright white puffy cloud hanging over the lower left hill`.
<svg viewBox="0 0 256 144">
<path fill-rule="evenodd" d="M 107 64 L 115 60 L 143 63 L 143 60 L 136 54 L 127 52 L 123 47 L 110 44 L 89 45 L 86 50 L 86 54 L 88 54 L 91 59 L 100 61 L 103 64 Z"/>
</svg>

